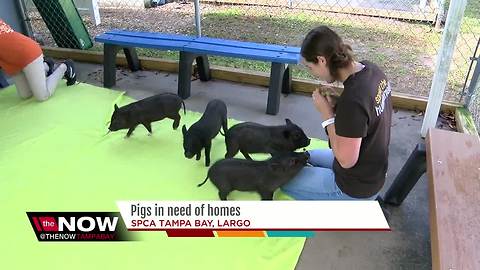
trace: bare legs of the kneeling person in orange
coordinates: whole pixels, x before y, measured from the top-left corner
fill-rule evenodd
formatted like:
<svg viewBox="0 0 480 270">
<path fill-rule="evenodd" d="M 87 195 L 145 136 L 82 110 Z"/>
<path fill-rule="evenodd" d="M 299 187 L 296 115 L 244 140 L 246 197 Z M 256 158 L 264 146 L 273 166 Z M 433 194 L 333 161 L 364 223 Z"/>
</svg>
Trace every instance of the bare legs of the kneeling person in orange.
<svg viewBox="0 0 480 270">
<path fill-rule="evenodd" d="M 35 98 L 39 101 L 44 101 L 53 95 L 58 82 L 62 79 L 66 70 L 67 66 L 62 63 L 47 78 L 45 76 L 45 65 L 42 55 L 28 64 L 23 69 L 23 72 Z"/>
</svg>

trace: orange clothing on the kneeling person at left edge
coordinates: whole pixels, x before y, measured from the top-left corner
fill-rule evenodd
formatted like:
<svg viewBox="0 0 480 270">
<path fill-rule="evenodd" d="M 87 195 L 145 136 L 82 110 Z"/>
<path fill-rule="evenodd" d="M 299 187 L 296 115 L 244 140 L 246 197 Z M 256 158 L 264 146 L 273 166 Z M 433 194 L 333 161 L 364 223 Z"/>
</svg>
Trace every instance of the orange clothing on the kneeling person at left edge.
<svg viewBox="0 0 480 270">
<path fill-rule="evenodd" d="M 15 32 L 0 19 L 0 68 L 7 75 L 19 73 L 41 55 L 42 49 L 36 41 Z"/>
</svg>

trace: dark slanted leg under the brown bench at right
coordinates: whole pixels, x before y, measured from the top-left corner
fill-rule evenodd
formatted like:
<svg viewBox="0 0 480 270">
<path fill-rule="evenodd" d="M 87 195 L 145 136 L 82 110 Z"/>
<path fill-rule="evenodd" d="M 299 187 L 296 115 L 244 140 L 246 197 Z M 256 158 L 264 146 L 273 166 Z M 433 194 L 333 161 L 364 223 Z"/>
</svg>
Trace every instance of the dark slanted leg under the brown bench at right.
<svg viewBox="0 0 480 270">
<path fill-rule="evenodd" d="M 425 144 L 419 143 L 388 189 L 383 202 L 397 206 L 402 204 L 408 193 L 410 193 L 418 182 L 418 179 L 420 179 L 426 171 Z"/>
</svg>

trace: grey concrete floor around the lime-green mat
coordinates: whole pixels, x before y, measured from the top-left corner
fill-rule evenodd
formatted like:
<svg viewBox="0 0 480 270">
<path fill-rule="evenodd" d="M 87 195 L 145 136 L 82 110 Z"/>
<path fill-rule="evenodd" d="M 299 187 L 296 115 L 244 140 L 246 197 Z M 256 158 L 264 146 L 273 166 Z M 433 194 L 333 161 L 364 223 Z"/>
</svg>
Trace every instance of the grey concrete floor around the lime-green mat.
<svg viewBox="0 0 480 270">
<path fill-rule="evenodd" d="M 78 63 L 78 80 L 102 86 L 100 65 Z M 140 99 L 161 92 L 177 92 L 177 75 L 161 72 L 117 71 L 116 89 Z M 310 137 L 325 139 L 318 113 L 311 98 L 303 95 L 282 97 L 276 116 L 265 114 L 264 87 L 224 81 L 192 82 L 192 95 L 186 107 L 203 112 L 206 103 L 220 98 L 228 105 L 229 117 L 263 124 L 283 124 L 285 118 L 301 126 Z M 395 111 L 392 120 L 388 179 L 382 193 L 421 141 L 422 117 L 410 111 Z M 308 239 L 297 270 L 311 269 L 431 269 L 428 224 L 427 181 L 423 176 L 405 202 L 390 208 L 391 232 L 319 232 Z M 319 213 L 321 214 L 321 213 Z"/>
</svg>

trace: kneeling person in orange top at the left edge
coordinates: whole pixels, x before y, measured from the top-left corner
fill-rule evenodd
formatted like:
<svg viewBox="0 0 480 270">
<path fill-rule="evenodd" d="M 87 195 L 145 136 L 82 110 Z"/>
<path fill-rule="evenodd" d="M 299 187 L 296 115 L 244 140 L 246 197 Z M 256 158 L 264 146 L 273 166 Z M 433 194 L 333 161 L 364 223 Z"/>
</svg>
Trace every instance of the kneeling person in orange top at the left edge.
<svg viewBox="0 0 480 270">
<path fill-rule="evenodd" d="M 47 100 L 62 78 L 68 86 L 75 84 L 77 76 L 72 60 L 54 66 L 51 59 L 44 60 L 37 42 L 15 32 L 0 19 L 0 68 L 13 76 L 21 98 L 35 96 L 39 101 Z"/>
</svg>

